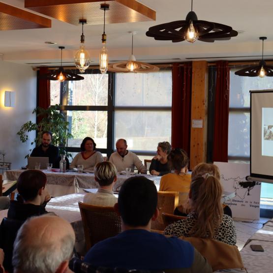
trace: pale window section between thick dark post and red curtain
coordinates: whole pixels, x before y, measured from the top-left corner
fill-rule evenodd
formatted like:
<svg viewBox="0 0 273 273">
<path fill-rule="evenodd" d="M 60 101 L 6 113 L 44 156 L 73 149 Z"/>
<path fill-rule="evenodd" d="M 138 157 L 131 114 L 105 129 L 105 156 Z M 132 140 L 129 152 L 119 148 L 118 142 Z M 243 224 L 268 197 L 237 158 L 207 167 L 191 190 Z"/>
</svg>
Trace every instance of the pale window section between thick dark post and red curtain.
<svg viewBox="0 0 273 273">
<path fill-rule="evenodd" d="M 128 149 L 154 155 L 157 143 L 171 142 L 172 73 L 117 73 L 114 139 Z M 151 157 L 150 157 L 151 158 Z"/>
</svg>

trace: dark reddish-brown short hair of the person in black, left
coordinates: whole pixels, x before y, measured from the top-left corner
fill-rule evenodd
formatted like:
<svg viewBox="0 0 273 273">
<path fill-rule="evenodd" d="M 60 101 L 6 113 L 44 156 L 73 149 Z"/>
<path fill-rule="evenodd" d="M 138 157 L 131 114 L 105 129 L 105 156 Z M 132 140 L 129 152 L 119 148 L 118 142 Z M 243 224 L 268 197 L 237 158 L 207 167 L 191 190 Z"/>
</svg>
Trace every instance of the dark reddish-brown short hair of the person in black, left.
<svg viewBox="0 0 273 273">
<path fill-rule="evenodd" d="M 39 170 L 27 170 L 18 178 L 17 190 L 25 201 L 32 201 L 46 185 L 46 175 Z"/>
</svg>

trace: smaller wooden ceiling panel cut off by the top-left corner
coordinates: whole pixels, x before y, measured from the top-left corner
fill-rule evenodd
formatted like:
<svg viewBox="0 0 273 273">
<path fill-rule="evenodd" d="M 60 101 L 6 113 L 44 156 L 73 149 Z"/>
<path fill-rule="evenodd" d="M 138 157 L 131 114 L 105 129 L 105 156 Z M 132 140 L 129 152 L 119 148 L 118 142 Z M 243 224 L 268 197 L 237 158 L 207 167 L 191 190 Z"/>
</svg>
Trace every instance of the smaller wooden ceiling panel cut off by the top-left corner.
<svg viewBox="0 0 273 273">
<path fill-rule="evenodd" d="M 51 20 L 0 2 L 0 30 L 51 28 Z"/>
</svg>

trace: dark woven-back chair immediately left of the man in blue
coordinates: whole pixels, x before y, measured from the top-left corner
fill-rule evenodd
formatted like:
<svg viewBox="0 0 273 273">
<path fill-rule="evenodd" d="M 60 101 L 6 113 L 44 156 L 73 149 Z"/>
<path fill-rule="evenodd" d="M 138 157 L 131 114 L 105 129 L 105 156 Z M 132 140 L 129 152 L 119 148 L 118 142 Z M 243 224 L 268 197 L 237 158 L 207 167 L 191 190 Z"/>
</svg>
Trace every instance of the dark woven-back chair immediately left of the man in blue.
<svg viewBox="0 0 273 273">
<path fill-rule="evenodd" d="M 113 207 L 102 207 L 79 202 L 85 232 L 86 250 L 104 239 L 121 233 L 121 217 Z"/>
</svg>

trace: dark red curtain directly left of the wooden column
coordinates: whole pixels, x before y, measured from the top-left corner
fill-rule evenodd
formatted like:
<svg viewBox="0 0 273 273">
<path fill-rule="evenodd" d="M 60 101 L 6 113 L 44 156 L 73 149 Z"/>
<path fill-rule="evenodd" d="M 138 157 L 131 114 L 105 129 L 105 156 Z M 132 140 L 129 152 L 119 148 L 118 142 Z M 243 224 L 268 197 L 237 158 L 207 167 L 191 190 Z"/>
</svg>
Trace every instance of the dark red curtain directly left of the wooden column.
<svg viewBox="0 0 273 273">
<path fill-rule="evenodd" d="M 172 147 L 182 148 L 190 155 L 192 62 L 173 64 Z"/>
</svg>

